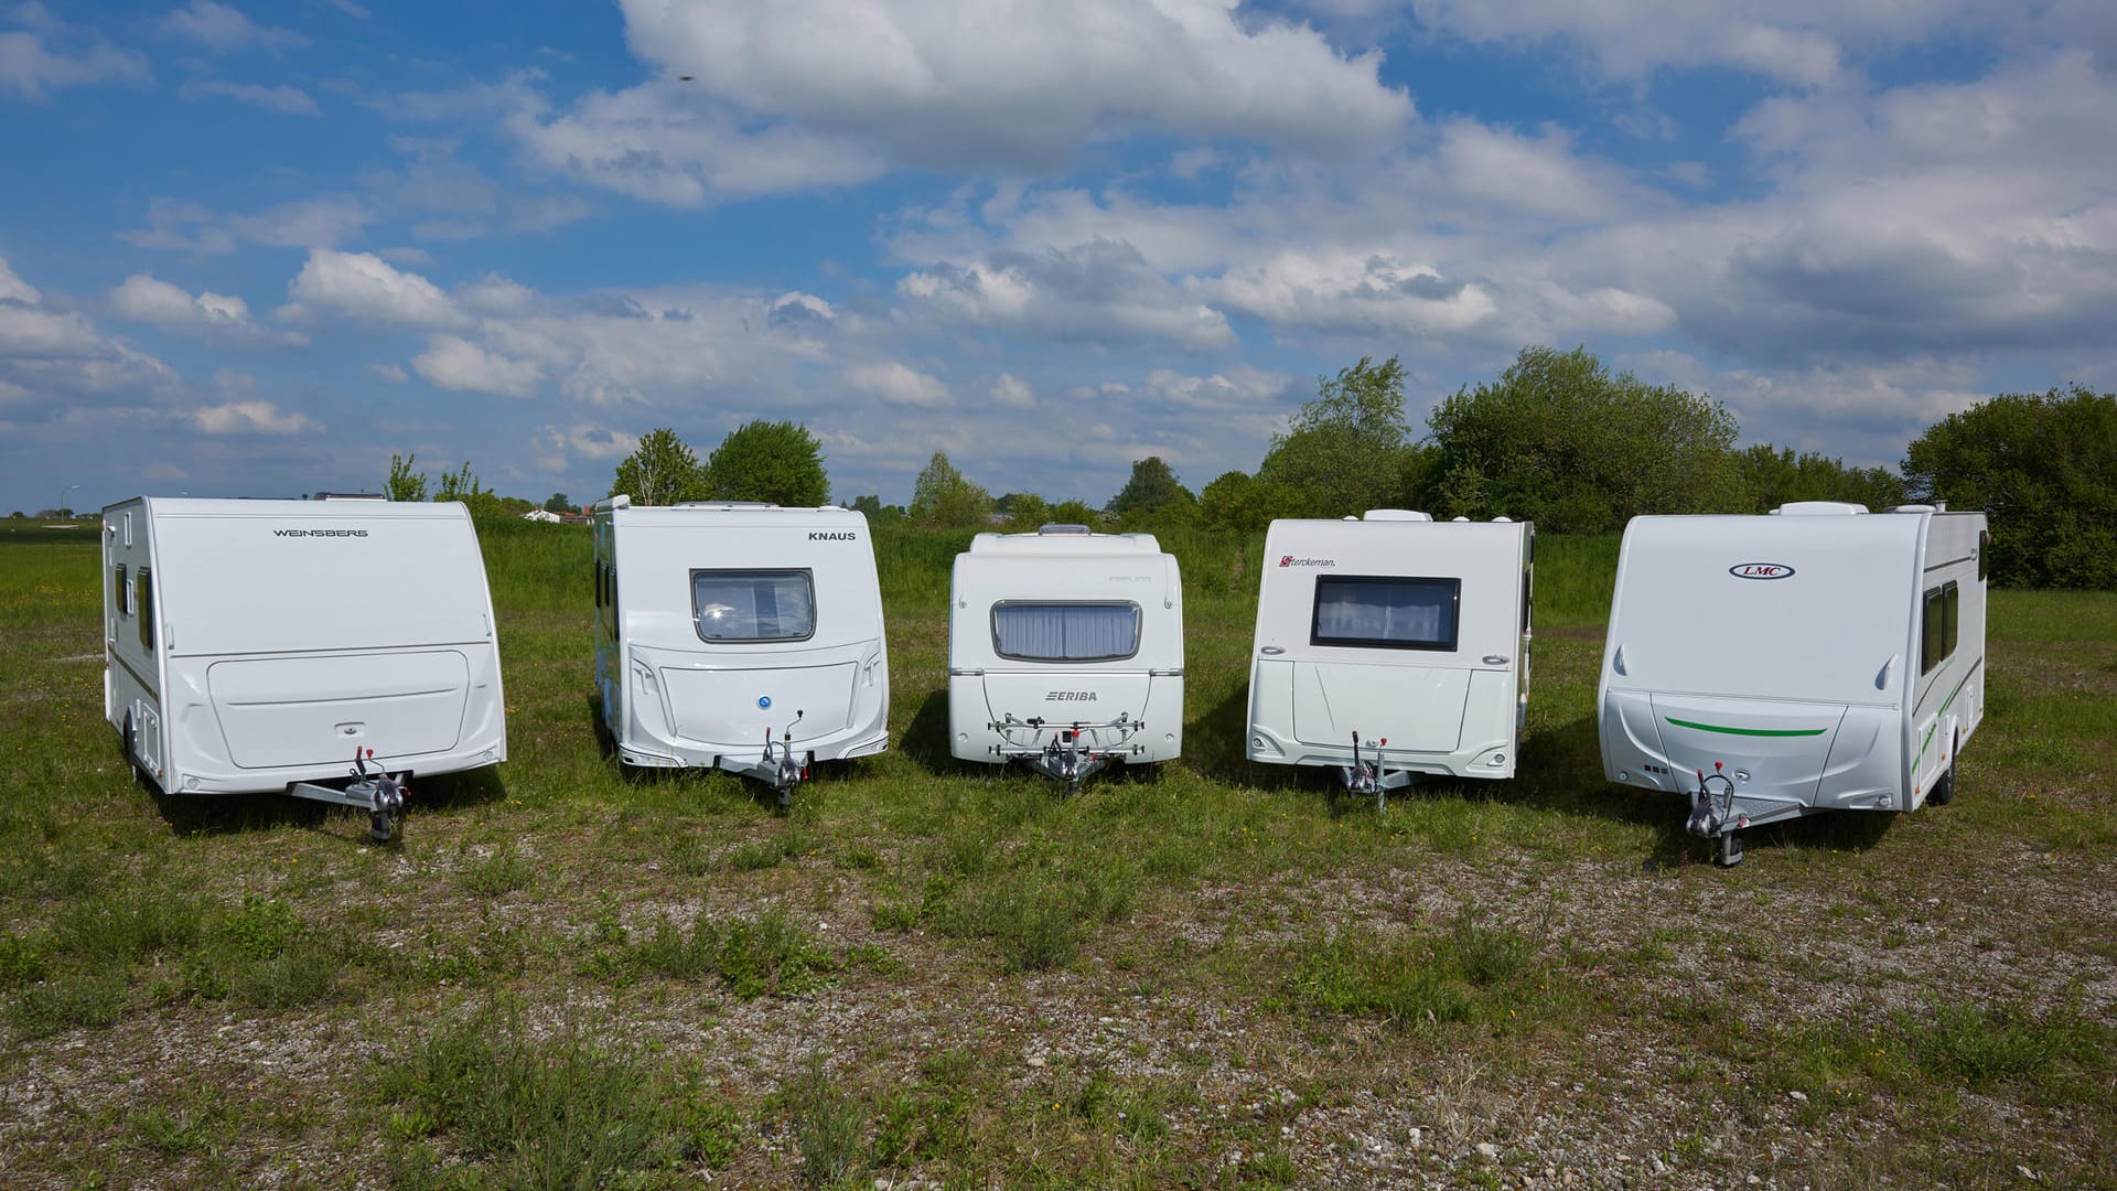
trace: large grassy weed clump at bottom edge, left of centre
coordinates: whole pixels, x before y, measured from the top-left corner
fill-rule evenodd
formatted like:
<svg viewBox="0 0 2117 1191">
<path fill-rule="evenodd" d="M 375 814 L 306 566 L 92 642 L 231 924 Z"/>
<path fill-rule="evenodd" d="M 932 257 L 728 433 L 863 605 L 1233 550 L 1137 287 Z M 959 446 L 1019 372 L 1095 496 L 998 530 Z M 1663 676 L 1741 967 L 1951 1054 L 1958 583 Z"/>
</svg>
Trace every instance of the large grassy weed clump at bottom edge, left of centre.
<svg viewBox="0 0 2117 1191">
<path fill-rule="evenodd" d="M 468 1180 L 481 1187 L 625 1183 L 686 1149 L 682 1096 L 661 1072 L 578 1028 L 538 1036 L 495 1011 L 430 1030 L 379 1064 L 375 1091 L 396 1136 L 445 1136 L 481 1166 Z M 398 1183 L 436 1174 L 419 1151 L 394 1166 Z"/>
</svg>

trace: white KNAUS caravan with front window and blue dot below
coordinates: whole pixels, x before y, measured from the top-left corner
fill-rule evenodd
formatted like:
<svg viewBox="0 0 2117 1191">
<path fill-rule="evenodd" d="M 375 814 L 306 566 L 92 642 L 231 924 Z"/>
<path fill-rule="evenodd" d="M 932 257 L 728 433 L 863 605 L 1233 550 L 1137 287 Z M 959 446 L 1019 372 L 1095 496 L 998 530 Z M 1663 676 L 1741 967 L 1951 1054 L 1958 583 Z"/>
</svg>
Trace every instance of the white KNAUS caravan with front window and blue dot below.
<svg viewBox="0 0 2117 1191">
<path fill-rule="evenodd" d="M 868 519 L 749 502 L 595 506 L 595 689 L 618 759 L 728 769 L 781 803 L 889 748 Z"/>
</svg>

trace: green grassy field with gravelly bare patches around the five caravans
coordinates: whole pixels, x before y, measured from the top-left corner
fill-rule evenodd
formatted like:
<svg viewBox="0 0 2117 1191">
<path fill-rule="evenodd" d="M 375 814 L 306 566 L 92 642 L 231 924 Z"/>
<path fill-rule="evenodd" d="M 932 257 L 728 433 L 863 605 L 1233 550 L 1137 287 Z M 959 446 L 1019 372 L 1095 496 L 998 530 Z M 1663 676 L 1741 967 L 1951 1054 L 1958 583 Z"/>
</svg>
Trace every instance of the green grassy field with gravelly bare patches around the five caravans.
<svg viewBox="0 0 2117 1191">
<path fill-rule="evenodd" d="M 1723 871 L 1600 782 L 1613 538 L 1520 778 L 1378 814 L 1243 759 L 1262 540 L 1166 540 L 1186 757 L 1065 799 L 948 759 L 967 536 L 883 532 L 891 752 L 777 814 L 603 757 L 586 534 L 481 534 L 510 761 L 387 848 L 133 784 L 93 534 L 0 534 L 0 1185 L 2117 1185 L 2113 593 L 1994 596 L 1954 805 Z"/>
</svg>

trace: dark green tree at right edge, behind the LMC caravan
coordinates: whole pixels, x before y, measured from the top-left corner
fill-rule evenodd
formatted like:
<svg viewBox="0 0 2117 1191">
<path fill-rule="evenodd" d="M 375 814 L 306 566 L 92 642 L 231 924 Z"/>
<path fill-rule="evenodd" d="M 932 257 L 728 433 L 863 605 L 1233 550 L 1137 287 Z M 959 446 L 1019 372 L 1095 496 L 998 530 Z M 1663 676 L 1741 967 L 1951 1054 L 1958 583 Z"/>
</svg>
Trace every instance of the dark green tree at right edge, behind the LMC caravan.
<svg viewBox="0 0 2117 1191">
<path fill-rule="evenodd" d="M 2117 394 L 2001 394 L 1950 413 L 1903 458 L 1920 500 L 1992 517 L 1992 579 L 2117 587 Z"/>
</svg>

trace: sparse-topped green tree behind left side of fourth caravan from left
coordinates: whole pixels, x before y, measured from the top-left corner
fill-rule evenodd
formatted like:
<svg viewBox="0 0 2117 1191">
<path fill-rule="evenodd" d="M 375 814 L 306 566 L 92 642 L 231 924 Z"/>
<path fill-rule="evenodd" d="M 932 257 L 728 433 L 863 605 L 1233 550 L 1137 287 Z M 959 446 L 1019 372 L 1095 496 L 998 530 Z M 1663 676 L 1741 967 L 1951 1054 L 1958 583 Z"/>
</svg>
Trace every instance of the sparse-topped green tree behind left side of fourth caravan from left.
<svg viewBox="0 0 2117 1191">
<path fill-rule="evenodd" d="M 1293 494 L 1279 515 L 1342 517 L 1395 502 L 1404 456 L 1414 451 L 1404 428 L 1404 365 L 1361 356 L 1317 379 L 1315 401 L 1272 437 L 1257 479 L 1274 496 Z"/>
</svg>

